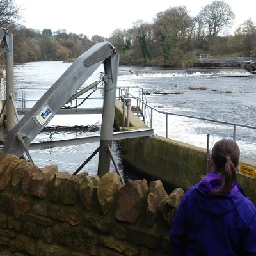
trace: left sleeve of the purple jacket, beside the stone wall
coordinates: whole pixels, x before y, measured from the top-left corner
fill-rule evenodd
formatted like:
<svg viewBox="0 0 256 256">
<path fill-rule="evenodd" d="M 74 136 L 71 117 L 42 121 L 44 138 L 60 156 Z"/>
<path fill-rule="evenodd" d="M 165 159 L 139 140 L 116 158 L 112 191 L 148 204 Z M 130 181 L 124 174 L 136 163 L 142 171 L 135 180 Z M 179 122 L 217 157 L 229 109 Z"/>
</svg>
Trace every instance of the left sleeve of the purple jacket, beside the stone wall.
<svg viewBox="0 0 256 256">
<path fill-rule="evenodd" d="M 189 191 L 188 191 L 189 192 Z M 173 220 L 172 227 L 170 230 L 170 242 L 172 256 L 183 256 L 185 255 L 186 248 L 186 237 L 188 232 L 187 225 L 187 205 L 188 205 L 188 192 L 183 196 L 177 214 Z"/>
</svg>

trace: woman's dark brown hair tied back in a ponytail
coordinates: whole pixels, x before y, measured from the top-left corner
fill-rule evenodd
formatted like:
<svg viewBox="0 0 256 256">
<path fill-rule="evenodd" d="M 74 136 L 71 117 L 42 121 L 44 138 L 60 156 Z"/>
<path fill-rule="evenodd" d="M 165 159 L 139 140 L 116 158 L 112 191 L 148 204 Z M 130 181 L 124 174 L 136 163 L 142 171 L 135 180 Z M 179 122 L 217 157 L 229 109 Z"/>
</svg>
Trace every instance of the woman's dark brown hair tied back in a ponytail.
<svg viewBox="0 0 256 256">
<path fill-rule="evenodd" d="M 215 143 L 212 148 L 212 160 L 215 164 L 215 172 L 221 173 L 224 177 L 220 189 L 211 195 L 229 193 L 236 183 L 236 168 L 239 164 L 240 149 L 236 141 L 222 139 Z"/>
</svg>

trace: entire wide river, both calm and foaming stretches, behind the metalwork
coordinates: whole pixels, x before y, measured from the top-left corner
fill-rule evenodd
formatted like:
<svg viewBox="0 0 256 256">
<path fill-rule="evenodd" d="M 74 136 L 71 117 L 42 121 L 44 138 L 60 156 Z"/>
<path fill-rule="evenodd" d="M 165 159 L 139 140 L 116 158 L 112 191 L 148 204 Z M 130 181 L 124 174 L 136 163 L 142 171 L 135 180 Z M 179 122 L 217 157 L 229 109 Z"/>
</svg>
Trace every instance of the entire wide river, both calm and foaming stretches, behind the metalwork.
<svg viewBox="0 0 256 256">
<path fill-rule="evenodd" d="M 47 61 L 15 65 L 15 88 L 50 87 L 71 63 Z M 92 76 L 98 80 L 103 67 Z M 134 86 L 151 92 L 147 95 L 148 104 L 161 111 L 201 118 L 212 118 L 227 122 L 256 126 L 255 96 L 256 75 L 248 77 L 212 76 L 219 70 L 168 70 L 166 68 L 120 66 L 118 86 Z M 244 70 L 227 70 L 244 73 Z M 91 78 L 91 77 L 90 77 Z M 90 79 L 89 79 L 90 80 Z M 90 83 L 90 81 L 88 81 Z M 157 94 L 156 91 L 170 94 Z M 223 137 L 232 138 L 232 127 L 204 122 L 179 116 L 170 116 L 169 138 L 206 148 L 207 134 L 210 134 L 210 147 Z M 56 115 L 47 125 L 47 129 L 36 136 L 35 141 L 60 140 L 75 138 L 88 134 L 99 134 L 101 115 Z M 164 115 L 154 114 L 153 128 L 156 134 L 165 136 Z M 256 161 L 255 130 L 237 128 L 237 143 L 241 156 Z M 38 166 L 56 164 L 60 171 L 74 172 L 81 163 L 99 145 L 80 145 L 33 150 L 31 156 Z M 113 153 L 121 170 L 124 169 L 120 159 L 120 146 L 113 143 Z M 93 157 L 85 170 L 97 174 L 97 156 Z M 114 170 L 111 164 L 111 170 Z"/>
</svg>

